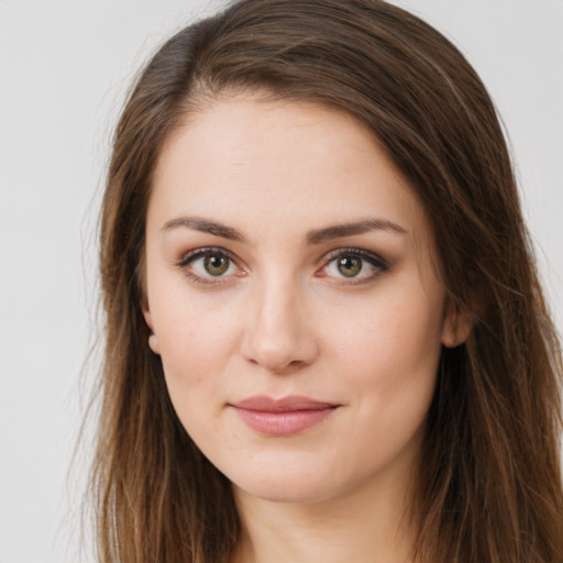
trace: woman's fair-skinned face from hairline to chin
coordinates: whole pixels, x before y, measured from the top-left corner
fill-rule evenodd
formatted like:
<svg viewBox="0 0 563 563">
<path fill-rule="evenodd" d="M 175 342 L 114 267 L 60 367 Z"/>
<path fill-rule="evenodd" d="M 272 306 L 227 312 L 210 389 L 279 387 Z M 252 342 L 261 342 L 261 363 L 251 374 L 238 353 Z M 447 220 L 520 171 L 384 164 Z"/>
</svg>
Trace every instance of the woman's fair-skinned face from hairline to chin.
<svg viewBox="0 0 563 563">
<path fill-rule="evenodd" d="M 422 206 L 314 104 L 217 101 L 165 146 L 144 313 L 181 423 L 250 495 L 407 478 L 454 320 Z"/>
</svg>

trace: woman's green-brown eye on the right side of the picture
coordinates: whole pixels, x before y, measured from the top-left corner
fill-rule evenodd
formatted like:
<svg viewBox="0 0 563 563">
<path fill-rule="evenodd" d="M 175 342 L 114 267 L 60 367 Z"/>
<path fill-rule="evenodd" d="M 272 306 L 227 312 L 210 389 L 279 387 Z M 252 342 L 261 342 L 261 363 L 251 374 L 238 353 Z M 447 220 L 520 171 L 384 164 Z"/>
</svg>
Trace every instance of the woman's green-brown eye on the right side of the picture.
<svg viewBox="0 0 563 563">
<path fill-rule="evenodd" d="M 318 276 L 330 276 L 343 282 L 368 282 L 389 269 L 387 263 L 377 254 L 360 249 L 340 249 L 331 252 L 327 258 L 328 262 Z"/>
</svg>

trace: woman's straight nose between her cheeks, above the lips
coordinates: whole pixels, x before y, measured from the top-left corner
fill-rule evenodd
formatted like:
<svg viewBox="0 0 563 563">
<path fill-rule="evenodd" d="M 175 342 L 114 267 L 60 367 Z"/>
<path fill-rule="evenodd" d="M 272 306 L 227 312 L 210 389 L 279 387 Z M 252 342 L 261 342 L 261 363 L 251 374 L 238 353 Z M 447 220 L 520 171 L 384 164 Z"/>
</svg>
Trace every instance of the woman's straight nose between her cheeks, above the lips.
<svg viewBox="0 0 563 563">
<path fill-rule="evenodd" d="M 274 374 L 298 371 L 317 358 L 319 346 L 305 298 L 292 282 L 264 284 L 249 296 L 241 352 Z M 310 317 L 310 316 L 309 316 Z"/>
</svg>

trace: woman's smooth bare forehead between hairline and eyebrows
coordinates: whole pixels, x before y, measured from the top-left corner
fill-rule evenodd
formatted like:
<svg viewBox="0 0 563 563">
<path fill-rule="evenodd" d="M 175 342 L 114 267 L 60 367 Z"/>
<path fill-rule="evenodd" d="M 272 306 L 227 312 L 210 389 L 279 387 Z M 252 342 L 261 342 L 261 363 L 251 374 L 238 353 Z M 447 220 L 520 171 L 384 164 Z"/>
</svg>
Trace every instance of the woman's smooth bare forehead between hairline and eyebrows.
<svg viewBox="0 0 563 563">
<path fill-rule="evenodd" d="M 183 213 L 239 223 L 256 236 L 280 224 L 289 232 L 366 216 L 428 229 L 411 187 L 356 119 L 250 96 L 203 107 L 168 139 L 148 220 Z"/>
</svg>

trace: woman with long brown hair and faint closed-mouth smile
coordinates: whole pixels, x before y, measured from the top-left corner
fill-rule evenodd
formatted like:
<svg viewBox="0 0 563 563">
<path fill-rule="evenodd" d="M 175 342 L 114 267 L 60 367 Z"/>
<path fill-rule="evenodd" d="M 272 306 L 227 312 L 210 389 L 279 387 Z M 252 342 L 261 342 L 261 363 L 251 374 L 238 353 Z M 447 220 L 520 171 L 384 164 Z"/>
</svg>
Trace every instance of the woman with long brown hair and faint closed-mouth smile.
<svg viewBox="0 0 563 563">
<path fill-rule="evenodd" d="M 379 0 L 243 0 L 133 89 L 101 561 L 563 561 L 561 354 L 493 104 Z"/>
</svg>

